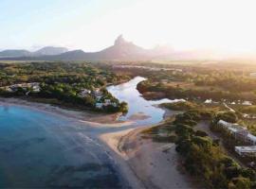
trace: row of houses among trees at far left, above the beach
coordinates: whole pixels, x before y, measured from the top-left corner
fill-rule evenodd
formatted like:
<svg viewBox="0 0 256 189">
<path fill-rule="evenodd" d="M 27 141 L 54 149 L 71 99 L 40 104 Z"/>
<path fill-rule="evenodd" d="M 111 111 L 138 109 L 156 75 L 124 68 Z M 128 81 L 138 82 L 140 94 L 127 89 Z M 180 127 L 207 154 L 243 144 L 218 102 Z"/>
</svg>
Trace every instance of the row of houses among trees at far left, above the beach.
<svg viewBox="0 0 256 189">
<path fill-rule="evenodd" d="M 5 87 L 5 90 L 9 93 L 17 92 L 19 89 L 23 89 L 25 91 L 31 91 L 33 93 L 39 93 L 40 83 L 39 82 L 30 82 L 30 83 L 19 83 L 19 84 L 13 84 Z"/>
</svg>

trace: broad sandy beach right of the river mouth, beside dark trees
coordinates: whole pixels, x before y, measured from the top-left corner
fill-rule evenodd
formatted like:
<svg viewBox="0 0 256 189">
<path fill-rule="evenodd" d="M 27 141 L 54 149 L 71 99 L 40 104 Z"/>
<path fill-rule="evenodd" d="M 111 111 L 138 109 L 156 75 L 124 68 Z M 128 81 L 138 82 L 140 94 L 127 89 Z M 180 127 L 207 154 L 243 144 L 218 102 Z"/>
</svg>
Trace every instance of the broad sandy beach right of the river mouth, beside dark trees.
<svg viewBox="0 0 256 189">
<path fill-rule="evenodd" d="M 101 139 L 128 164 L 140 183 L 139 188 L 194 188 L 193 180 L 179 166 L 174 144 L 143 139 L 140 133 L 143 129 L 105 134 Z"/>
</svg>

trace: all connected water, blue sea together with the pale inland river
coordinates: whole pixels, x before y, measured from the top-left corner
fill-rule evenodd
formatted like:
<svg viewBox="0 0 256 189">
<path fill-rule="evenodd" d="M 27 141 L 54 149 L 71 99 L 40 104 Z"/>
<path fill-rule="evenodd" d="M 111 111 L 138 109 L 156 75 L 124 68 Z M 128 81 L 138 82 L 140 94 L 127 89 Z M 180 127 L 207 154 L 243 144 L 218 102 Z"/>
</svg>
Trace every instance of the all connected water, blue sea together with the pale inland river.
<svg viewBox="0 0 256 189">
<path fill-rule="evenodd" d="M 86 127 L 64 116 L 0 105 L 0 187 L 119 188 L 124 180 L 98 136 L 158 123 L 164 111 L 155 104 L 172 102 L 141 97 L 136 87 L 144 79 L 135 77 L 108 87 L 110 93 L 128 103 L 129 112 L 119 119 L 133 123 L 123 128 Z"/>
</svg>

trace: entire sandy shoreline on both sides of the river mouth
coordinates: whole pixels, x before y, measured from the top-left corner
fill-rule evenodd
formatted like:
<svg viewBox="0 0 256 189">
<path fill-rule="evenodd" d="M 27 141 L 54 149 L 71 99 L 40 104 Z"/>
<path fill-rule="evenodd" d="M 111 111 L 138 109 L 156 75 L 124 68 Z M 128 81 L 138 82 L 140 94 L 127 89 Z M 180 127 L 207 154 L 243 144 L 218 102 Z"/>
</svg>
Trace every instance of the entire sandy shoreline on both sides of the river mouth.
<svg viewBox="0 0 256 189">
<path fill-rule="evenodd" d="M 114 165 L 120 174 L 123 187 L 130 188 L 166 188 L 167 186 L 190 188 L 188 180 L 176 170 L 177 162 L 170 163 L 168 159 L 176 157 L 175 151 L 169 152 L 170 158 L 166 159 L 166 154 L 159 152 L 162 144 L 141 140 L 138 137 L 141 130 L 153 126 L 135 126 L 133 122 L 119 122 L 119 115 L 110 115 L 93 112 L 78 112 L 65 110 L 49 104 L 30 102 L 19 98 L 1 98 L 0 106 L 19 106 L 35 111 L 46 112 L 54 116 L 62 116 L 67 120 L 77 121 L 84 127 L 92 127 L 95 139 L 101 141 L 101 145 L 113 159 Z M 165 110 L 166 111 L 166 110 Z M 166 112 L 163 121 L 170 112 Z M 100 122 L 97 122 L 100 120 Z M 135 145 L 133 145 L 135 144 Z M 150 148 L 148 146 L 151 146 Z M 155 154 L 159 154 L 155 156 Z M 152 159 L 149 159 L 149 157 Z M 154 162 L 152 164 L 152 162 Z M 169 165 L 164 165 L 169 163 Z M 154 165 L 155 164 L 155 165 Z M 167 170 L 166 167 L 169 167 Z M 154 168 L 154 169 L 152 169 Z M 163 170 L 163 171 L 161 171 Z M 149 171 L 151 172 L 149 174 Z M 168 173 L 168 174 L 167 174 Z M 170 175 L 174 175 L 171 179 Z M 152 179 L 155 178 L 155 179 Z M 120 180 L 120 181 L 121 181 Z M 175 180 L 175 181 L 174 181 Z M 178 184 L 177 184 L 178 182 Z M 173 183 L 173 185 L 172 185 Z M 170 185 L 171 184 L 171 185 Z M 181 184 L 181 185 L 179 185 Z M 185 185 L 184 185 L 185 184 Z M 169 187 L 170 188 L 170 187 Z"/>
</svg>

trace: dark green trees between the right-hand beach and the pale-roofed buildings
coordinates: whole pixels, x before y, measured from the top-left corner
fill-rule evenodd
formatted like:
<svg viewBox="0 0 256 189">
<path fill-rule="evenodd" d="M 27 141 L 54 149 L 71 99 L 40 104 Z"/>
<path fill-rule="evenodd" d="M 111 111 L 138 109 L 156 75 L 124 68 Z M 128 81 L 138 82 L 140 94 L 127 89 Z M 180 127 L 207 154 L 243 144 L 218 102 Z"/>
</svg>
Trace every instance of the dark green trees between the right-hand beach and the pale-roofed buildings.
<svg viewBox="0 0 256 189">
<path fill-rule="evenodd" d="M 202 178 L 210 188 L 255 187 L 255 172 L 243 168 L 227 156 L 204 132 L 193 129 L 194 122 L 209 119 L 210 112 L 189 111 L 176 116 L 173 124 L 177 135 L 176 150 L 184 158 L 184 166 Z M 206 116 L 207 115 L 207 116 Z"/>
</svg>

